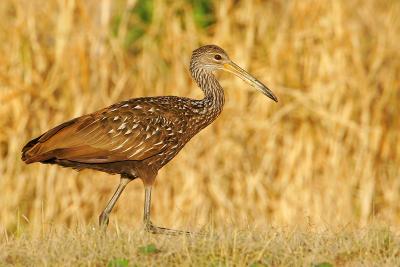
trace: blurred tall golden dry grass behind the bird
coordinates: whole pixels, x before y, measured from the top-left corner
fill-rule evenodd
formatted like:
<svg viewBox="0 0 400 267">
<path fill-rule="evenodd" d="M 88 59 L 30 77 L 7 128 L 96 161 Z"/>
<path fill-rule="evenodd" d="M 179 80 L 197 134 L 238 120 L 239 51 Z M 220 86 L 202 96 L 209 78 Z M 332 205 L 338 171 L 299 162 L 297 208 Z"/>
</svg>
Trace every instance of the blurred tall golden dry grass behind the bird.
<svg viewBox="0 0 400 267">
<path fill-rule="evenodd" d="M 24 143 L 67 119 L 139 96 L 202 97 L 191 51 L 214 43 L 278 104 L 229 75 L 221 117 L 157 178 L 156 224 L 400 223 L 400 2 L 0 1 L 0 231 L 97 221 L 117 176 L 24 165 Z M 118 18 L 118 23 L 116 23 Z M 131 183 L 111 223 L 139 227 Z"/>
</svg>

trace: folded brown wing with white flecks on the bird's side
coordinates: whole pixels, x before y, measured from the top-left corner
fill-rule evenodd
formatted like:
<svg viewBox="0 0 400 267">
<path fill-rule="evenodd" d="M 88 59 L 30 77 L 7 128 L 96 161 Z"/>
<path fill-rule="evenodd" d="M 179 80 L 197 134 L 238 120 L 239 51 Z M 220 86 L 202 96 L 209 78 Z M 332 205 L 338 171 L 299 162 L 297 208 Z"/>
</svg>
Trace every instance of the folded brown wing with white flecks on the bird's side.
<svg viewBox="0 0 400 267">
<path fill-rule="evenodd" d="M 174 142 L 172 122 L 163 112 L 143 104 L 122 104 L 50 130 L 38 139 L 36 153 L 83 163 L 107 163 L 143 160 Z"/>
</svg>

